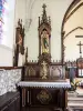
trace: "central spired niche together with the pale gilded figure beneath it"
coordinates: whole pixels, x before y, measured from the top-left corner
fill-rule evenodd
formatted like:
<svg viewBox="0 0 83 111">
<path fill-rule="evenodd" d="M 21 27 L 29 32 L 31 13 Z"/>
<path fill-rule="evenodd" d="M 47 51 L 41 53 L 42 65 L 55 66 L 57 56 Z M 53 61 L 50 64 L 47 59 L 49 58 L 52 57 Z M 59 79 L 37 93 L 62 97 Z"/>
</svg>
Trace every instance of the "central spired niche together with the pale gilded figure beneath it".
<svg viewBox="0 0 83 111">
<path fill-rule="evenodd" d="M 48 79 L 50 71 L 49 67 L 51 63 L 51 20 L 46 17 L 45 8 L 43 4 L 42 18 L 39 17 L 39 64 L 40 64 L 40 77 Z"/>
</svg>

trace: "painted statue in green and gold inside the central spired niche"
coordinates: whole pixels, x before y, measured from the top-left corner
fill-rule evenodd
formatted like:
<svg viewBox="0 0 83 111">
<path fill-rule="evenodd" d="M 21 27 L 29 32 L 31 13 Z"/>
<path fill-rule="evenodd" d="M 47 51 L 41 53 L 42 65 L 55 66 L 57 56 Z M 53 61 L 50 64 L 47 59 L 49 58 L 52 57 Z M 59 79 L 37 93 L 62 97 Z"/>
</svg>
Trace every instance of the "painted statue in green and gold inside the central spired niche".
<svg viewBox="0 0 83 111">
<path fill-rule="evenodd" d="M 49 33 L 46 29 L 43 29 L 41 33 L 41 52 L 49 53 Z"/>
</svg>

